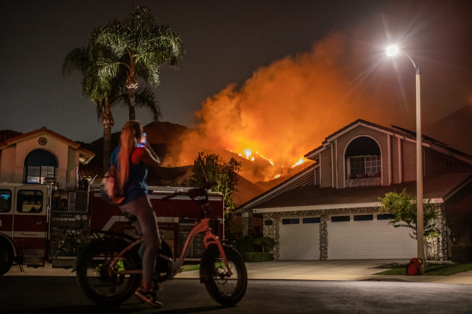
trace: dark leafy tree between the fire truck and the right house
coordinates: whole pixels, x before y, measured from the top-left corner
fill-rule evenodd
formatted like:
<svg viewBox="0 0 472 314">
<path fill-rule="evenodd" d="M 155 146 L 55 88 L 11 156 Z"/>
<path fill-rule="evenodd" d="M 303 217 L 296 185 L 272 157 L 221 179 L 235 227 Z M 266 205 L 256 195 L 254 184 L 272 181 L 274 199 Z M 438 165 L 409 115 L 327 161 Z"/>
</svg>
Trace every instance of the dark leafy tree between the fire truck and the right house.
<svg viewBox="0 0 472 314">
<path fill-rule="evenodd" d="M 234 191 L 236 190 L 237 181 L 239 179 L 238 173 L 241 171 L 241 162 L 235 158 L 227 163 L 221 163 L 221 158 L 216 154 L 204 154 L 199 152 L 194 159 L 194 168 L 192 169 L 192 176 L 183 185 L 187 186 L 203 186 L 207 182 L 217 182 L 217 185 L 212 189 L 223 194 L 225 214 L 225 230 L 229 231 L 233 211 L 236 209 L 234 201 Z"/>
</svg>

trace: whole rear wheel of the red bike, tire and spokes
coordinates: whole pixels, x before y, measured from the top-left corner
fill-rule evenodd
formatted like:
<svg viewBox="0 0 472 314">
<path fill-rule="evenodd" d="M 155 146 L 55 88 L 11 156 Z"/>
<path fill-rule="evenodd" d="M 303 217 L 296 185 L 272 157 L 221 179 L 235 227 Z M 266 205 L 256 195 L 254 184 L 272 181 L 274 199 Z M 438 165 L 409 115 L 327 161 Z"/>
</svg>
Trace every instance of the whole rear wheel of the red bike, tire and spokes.
<svg viewBox="0 0 472 314">
<path fill-rule="evenodd" d="M 130 298 L 141 283 L 141 274 L 120 274 L 120 270 L 141 269 L 134 249 L 127 251 L 110 269 L 111 261 L 128 246 L 121 239 L 100 239 L 86 245 L 77 256 L 77 280 L 85 295 L 98 304 L 117 306 Z M 114 272 L 115 271 L 115 272 Z"/>
</svg>

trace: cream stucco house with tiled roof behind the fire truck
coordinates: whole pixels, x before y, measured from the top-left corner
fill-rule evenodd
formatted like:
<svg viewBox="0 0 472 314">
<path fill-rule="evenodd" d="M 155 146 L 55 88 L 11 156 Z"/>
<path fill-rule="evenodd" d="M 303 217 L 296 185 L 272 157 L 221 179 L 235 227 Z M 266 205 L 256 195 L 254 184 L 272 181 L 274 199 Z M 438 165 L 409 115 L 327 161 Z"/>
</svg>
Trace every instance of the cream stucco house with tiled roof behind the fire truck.
<svg viewBox="0 0 472 314">
<path fill-rule="evenodd" d="M 80 144 L 42 127 L 28 133 L 0 131 L 0 182 L 54 182 L 59 189 L 76 184 L 79 165 L 95 154 Z"/>
</svg>

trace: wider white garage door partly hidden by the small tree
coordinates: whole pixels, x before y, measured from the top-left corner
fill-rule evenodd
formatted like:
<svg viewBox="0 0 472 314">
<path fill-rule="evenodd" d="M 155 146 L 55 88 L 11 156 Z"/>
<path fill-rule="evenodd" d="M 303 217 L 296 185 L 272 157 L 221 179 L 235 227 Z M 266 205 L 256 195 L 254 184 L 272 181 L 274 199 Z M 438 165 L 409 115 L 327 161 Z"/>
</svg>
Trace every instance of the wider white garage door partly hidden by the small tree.
<svg viewBox="0 0 472 314">
<path fill-rule="evenodd" d="M 333 216 L 328 220 L 328 259 L 412 258 L 416 241 L 405 227 L 388 224 L 389 215 Z"/>
</svg>

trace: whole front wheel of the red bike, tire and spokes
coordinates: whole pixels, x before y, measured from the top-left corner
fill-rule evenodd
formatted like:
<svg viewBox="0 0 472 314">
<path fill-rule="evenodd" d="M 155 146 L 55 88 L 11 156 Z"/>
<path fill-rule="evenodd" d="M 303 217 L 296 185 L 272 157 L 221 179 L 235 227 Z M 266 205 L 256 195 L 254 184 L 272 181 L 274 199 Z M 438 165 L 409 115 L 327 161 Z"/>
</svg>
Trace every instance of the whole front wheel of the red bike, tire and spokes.
<svg viewBox="0 0 472 314">
<path fill-rule="evenodd" d="M 211 244 L 200 262 L 200 276 L 210 296 L 219 304 L 231 306 L 239 302 L 246 293 L 247 273 L 243 258 L 236 249 L 223 245 L 231 275 L 223 263 L 218 246 Z"/>
</svg>

